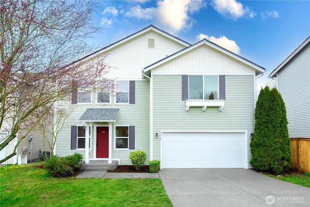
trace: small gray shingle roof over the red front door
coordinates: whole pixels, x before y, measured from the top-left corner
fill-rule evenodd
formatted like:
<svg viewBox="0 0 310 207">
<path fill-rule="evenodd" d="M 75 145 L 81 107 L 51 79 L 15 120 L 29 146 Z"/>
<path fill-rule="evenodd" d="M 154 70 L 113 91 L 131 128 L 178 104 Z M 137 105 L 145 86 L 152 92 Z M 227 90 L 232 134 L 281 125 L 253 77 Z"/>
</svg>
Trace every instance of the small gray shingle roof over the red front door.
<svg viewBox="0 0 310 207">
<path fill-rule="evenodd" d="M 84 122 L 115 122 L 119 109 L 87 109 L 79 118 Z"/>
</svg>

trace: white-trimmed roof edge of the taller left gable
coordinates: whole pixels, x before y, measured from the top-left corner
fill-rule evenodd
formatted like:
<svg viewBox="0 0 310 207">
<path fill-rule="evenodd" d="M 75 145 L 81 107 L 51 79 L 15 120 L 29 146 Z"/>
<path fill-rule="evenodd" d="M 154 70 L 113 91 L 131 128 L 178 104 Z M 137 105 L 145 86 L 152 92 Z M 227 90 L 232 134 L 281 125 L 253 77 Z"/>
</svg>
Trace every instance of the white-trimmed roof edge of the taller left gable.
<svg viewBox="0 0 310 207">
<path fill-rule="evenodd" d="M 129 35 L 129 36 L 127 36 L 127 37 L 125 37 L 125 38 L 123 38 L 123 39 L 121 39 L 121 40 L 119 40 L 119 41 L 117 41 L 117 42 L 115 42 L 115 43 L 113 43 L 113 44 L 111 44 L 111 45 L 105 47 L 105 48 L 99 49 L 99 50 L 93 52 L 92 54 L 87 55 L 87 56 L 85 56 L 85 57 L 83 57 L 83 58 L 81 58 L 81 59 L 75 61 L 75 62 L 72 63 L 72 64 L 78 63 L 78 62 L 80 62 L 80 61 L 87 61 L 87 60 L 89 60 L 89 59 L 92 59 L 92 58 L 95 57 L 96 55 L 98 55 L 98 54 L 100 54 L 100 53 L 103 53 L 103 52 L 105 52 L 105 51 L 107 51 L 107 50 L 109 50 L 109 49 L 111 49 L 111 48 L 115 48 L 115 47 L 117 47 L 117 46 L 123 44 L 124 42 L 127 42 L 127 41 L 129 41 L 129 40 L 131 40 L 131 39 L 133 39 L 133 38 L 139 36 L 140 34 L 143 34 L 143 33 L 148 32 L 148 31 L 150 31 L 150 30 L 152 30 L 152 31 L 154 31 L 154 32 L 157 32 L 157 33 L 159 33 L 159 34 L 162 34 L 163 36 L 165 36 L 165 37 L 167 37 L 167 38 L 169 38 L 169 39 L 171 39 L 171 40 L 173 40 L 173 41 L 175 41 L 175 42 L 178 42 L 179 44 L 184 45 L 185 47 L 190 46 L 189 43 L 187 43 L 187 42 L 185 42 L 185 41 L 183 41 L 183 40 L 181 40 L 181 39 L 179 39 L 179 38 L 177 38 L 177 37 L 175 37 L 175 36 L 173 36 L 173 35 L 171 35 L 171 34 L 169 34 L 169 33 L 167 33 L 167 32 L 164 32 L 164 31 L 162 31 L 162 30 L 160 30 L 160 29 L 154 27 L 153 25 L 150 25 L 150 26 L 148 26 L 148 27 L 146 27 L 146 28 L 140 30 L 139 32 L 133 33 L 133 34 L 131 34 L 131 35 Z"/>
</svg>

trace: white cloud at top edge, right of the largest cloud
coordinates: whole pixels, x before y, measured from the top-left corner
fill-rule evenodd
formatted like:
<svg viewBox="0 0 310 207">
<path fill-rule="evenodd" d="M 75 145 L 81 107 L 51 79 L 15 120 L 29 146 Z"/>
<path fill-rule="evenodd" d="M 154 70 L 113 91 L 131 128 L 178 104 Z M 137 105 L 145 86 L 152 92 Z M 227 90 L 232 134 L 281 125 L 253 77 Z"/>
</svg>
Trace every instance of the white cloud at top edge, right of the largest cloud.
<svg viewBox="0 0 310 207">
<path fill-rule="evenodd" d="M 246 15 L 253 18 L 256 15 L 254 11 L 250 10 L 248 7 L 244 7 L 242 3 L 236 0 L 213 0 L 211 5 L 219 14 L 232 18 L 233 20 L 237 20 Z"/>
</svg>

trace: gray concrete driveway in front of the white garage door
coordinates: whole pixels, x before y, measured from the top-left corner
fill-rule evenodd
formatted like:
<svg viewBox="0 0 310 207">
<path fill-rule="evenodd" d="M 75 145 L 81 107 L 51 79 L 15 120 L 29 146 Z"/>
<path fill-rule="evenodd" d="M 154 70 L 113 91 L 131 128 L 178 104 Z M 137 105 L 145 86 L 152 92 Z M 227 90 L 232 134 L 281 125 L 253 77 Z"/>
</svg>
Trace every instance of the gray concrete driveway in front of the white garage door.
<svg viewBox="0 0 310 207">
<path fill-rule="evenodd" d="M 249 169 L 162 169 L 173 207 L 310 207 L 310 188 Z"/>
</svg>

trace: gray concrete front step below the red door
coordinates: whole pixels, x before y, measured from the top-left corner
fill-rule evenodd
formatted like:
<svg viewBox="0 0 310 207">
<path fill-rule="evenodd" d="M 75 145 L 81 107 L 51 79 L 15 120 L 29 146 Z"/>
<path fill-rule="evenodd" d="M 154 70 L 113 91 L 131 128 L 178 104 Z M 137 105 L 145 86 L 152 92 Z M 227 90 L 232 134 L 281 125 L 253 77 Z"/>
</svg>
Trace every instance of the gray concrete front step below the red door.
<svg viewBox="0 0 310 207">
<path fill-rule="evenodd" d="M 81 170 L 85 171 L 108 171 L 115 170 L 118 167 L 118 161 L 113 160 L 112 163 L 108 163 L 108 160 L 91 160 L 88 164 L 83 163 Z"/>
</svg>

